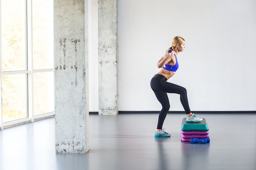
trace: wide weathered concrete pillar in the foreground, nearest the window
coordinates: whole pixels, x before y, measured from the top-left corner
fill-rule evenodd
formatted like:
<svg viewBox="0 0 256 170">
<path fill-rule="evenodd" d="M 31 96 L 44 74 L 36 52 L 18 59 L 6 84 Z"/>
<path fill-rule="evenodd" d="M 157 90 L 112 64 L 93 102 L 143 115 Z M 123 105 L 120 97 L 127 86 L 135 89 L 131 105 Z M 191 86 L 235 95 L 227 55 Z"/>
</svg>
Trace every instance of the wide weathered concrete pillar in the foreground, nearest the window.
<svg viewBox="0 0 256 170">
<path fill-rule="evenodd" d="M 55 149 L 85 153 L 88 133 L 88 0 L 54 0 Z"/>
</svg>

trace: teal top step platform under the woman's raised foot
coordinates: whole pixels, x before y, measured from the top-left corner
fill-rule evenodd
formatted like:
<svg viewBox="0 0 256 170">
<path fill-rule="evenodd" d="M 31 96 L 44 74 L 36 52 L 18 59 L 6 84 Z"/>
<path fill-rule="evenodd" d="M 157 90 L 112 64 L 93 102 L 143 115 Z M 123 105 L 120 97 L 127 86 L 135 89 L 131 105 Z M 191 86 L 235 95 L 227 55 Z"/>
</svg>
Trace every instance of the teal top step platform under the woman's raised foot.
<svg viewBox="0 0 256 170">
<path fill-rule="evenodd" d="M 200 122 L 186 122 L 186 118 L 183 118 L 181 130 L 182 131 L 193 131 L 193 130 L 208 131 L 209 128 L 204 118 Z"/>
</svg>

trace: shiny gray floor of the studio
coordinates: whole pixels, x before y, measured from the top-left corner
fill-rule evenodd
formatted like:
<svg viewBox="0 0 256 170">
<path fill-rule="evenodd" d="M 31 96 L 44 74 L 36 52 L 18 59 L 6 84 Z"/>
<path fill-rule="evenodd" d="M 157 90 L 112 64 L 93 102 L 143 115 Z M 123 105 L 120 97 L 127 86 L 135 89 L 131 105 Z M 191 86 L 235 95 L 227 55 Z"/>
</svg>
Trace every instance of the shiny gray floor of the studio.
<svg viewBox="0 0 256 170">
<path fill-rule="evenodd" d="M 180 140 L 184 115 L 168 114 L 171 138 L 153 137 L 157 114 L 90 115 L 90 150 L 55 154 L 54 118 L 0 131 L 0 170 L 256 170 L 256 115 L 201 114 L 210 144 Z"/>
</svg>

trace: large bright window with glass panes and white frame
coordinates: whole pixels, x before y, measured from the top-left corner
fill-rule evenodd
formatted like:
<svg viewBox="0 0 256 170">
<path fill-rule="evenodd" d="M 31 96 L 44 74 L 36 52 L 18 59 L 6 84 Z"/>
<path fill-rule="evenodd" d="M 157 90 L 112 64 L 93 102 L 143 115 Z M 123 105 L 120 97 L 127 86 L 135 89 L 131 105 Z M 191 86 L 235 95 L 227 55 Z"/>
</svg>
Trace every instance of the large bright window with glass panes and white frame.
<svg viewBox="0 0 256 170">
<path fill-rule="evenodd" d="M 0 128 L 54 115 L 53 0 L 1 0 Z"/>
</svg>

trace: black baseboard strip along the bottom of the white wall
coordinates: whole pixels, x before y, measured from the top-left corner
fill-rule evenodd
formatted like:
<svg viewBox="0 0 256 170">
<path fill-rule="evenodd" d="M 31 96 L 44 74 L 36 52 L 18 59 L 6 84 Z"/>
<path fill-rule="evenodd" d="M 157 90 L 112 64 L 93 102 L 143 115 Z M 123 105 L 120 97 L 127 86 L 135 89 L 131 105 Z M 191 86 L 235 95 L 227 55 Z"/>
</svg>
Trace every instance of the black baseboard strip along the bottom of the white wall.
<svg viewBox="0 0 256 170">
<path fill-rule="evenodd" d="M 256 114 L 256 111 L 192 111 L 196 114 Z M 159 111 L 118 111 L 119 114 L 150 114 L 159 113 Z M 168 111 L 168 113 L 181 113 L 184 111 Z M 98 115 L 98 112 L 89 112 L 90 115 Z"/>
</svg>

